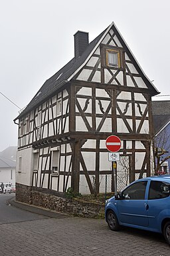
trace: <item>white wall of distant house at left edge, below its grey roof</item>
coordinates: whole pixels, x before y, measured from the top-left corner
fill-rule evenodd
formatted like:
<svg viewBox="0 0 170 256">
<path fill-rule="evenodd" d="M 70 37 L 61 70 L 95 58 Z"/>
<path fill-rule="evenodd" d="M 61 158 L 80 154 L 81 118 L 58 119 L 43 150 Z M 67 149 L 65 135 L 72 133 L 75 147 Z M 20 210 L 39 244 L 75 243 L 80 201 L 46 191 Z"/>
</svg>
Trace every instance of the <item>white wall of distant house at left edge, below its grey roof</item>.
<svg viewBox="0 0 170 256">
<path fill-rule="evenodd" d="M 2 167 L 0 168 L 0 182 L 12 183 L 15 185 L 15 168 Z"/>
</svg>

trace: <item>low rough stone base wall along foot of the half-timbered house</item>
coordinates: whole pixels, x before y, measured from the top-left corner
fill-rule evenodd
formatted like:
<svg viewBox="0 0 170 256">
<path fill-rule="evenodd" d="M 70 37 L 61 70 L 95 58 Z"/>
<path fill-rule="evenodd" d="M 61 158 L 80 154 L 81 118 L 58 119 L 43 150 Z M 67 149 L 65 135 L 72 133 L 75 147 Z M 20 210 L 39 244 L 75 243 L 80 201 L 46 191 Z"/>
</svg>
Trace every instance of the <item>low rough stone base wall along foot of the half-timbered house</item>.
<svg viewBox="0 0 170 256">
<path fill-rule="evenodd" d="M 104 204 L 78 198 L 67 199 L 63 193 L 51 189 L 40 189 L 17 183 L 16 200 L 74 216 L 104 218 Z"/>
</svg>

